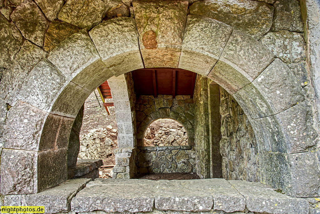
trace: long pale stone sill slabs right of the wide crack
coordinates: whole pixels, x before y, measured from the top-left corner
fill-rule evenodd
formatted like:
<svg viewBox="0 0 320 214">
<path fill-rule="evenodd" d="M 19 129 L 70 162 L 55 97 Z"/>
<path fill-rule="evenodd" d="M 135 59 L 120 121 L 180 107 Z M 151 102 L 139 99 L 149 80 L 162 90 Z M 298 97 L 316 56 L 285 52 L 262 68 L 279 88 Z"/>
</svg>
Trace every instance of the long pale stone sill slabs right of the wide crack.
<svg viewBox="0 0 320 214">
<path fill-rule="evenodd" d="M 139 180 L 96 179 L 71 201 L 71 210 L 88 212 L 147 212 L 157 210 L 203 212 L 244 211 L 308 214 L 308 201 L 277 193 L 247 181 L 225 179 Z"/>
</svg>

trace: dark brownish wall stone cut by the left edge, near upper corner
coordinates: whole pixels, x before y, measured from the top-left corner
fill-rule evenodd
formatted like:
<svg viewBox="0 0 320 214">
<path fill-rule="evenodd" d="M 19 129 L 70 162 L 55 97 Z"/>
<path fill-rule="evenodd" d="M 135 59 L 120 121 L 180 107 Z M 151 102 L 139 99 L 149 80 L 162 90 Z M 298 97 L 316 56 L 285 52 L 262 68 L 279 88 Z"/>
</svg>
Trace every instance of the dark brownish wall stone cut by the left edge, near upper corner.
<svg viewBox="0 0 320 214">
<path fill-rule="evenodd" d="M 23 37 L 13 22 L 4 23 L 0 31 L 0 66 L 6 68 L 23 44 Z"/>
</svg>

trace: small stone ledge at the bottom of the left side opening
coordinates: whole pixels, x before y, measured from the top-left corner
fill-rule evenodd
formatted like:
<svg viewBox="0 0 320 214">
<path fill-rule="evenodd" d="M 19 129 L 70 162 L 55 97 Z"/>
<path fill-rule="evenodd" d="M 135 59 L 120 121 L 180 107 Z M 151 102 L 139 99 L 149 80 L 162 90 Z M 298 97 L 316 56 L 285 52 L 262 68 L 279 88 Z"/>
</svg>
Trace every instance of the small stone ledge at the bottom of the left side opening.
<svg viewBox="0 0 320 214">
<path fill-rule="evenodd" d="M 103 165 L 102 160 L 100 159 L 78 159 L 77 160 L 77 167 L 74 170 L 75 177 L 81 177 L 89 172 L 91 172 L 94 169 L 98 169 L 100 166 Z"/>
</svg>

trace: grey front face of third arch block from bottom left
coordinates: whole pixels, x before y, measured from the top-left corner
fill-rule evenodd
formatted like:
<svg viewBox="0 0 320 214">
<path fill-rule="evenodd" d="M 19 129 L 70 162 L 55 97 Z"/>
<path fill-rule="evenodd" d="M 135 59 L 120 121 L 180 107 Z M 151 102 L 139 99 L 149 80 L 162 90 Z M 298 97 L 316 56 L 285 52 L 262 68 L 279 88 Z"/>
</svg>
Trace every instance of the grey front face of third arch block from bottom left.
<svg viewBox="0 0 320 214">
<path fill-rule="evenodd" d="M 21 87 L 18 99 L 50 112 L 54 98 L 62 90 L 66 77 L 44 58 L 30 72 Z"/>
</svg>

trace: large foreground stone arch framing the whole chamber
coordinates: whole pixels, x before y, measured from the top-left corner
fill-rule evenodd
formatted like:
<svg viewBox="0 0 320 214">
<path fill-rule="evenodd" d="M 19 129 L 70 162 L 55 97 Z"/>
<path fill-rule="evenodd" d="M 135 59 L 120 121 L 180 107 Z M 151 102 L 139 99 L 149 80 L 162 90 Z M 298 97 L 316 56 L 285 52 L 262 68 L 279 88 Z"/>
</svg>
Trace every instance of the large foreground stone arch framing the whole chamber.
<svg viewBox="0 0 320 214">
<path fill-rule="evenodd" d="M 142 19 L 139 13 L 135 15 Z M 292 196 L 317 196 L 319 177 L 308 175 L 319 173 L 318 168 L 308 168 L 308 164 L 318 165 L 318 151 L 308 151 L 315 136 L 305 145 L 298 144 L 307 124 L 296 124 L 299 140 L 287 124 L 292 115 L 306 121 L 311 104 L 287 66 L 258 41 L 222 22 L 188 15 L 185 31 L 183 22 L 173 19 L 170 24 L 179 25 L 184 36 L 175 40 L 180 45 L 158 42 L 168 52 L 157 66 L 168 67 L 168 62 L 176 60 L 170 60 L 174 46 L 173 58 L 179 57 L 179 68 L 216 81 L 243 108 L 260 149 L 261 182 Z M 101 83 L 144 67 L 140 49 L 145 48 L 138 43 L 138 34 L 141 37 L 149 28 L 136 28 L 132 18 L 108 20 L 89 34 L 80 31 L 68 37 L 35 66 L 19 101 L 8 112 L 1 157 L 2 193 L 36 193 L 67 179 L 67 136 L 77 112 Z M 144 59 L 153 51 L 158 50 L 143 52 L 147 54 Z"/>
</svg>

